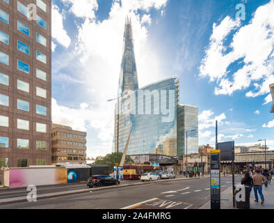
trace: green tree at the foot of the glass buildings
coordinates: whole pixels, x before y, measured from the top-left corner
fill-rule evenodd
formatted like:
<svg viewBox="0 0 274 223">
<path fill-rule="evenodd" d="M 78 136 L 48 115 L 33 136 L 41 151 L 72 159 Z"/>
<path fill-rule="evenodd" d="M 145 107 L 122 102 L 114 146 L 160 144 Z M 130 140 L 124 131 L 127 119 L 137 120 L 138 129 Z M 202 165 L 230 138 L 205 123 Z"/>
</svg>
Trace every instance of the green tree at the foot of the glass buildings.
<svg viewBox="0 0 274 223">
<path fill-rule="evenodd" d="M 122 160 L 122 155 L 123 153 L 118 154 L 118 163 L 120 164 Z M 115 166 L 115 163 L 117 162 L 117 153 L 111 153 L 107 154 L 106 156 L 102 157 L 97 157 L 95 160 L 95 165 L 108 165 L 113 171 L 113 167 Z M 131 160 L 131 157 L 129 155 L 126 156 L 126 160 L 124 161 L 125 163 L 133 163 L 134 161 Z"/>
</svg>

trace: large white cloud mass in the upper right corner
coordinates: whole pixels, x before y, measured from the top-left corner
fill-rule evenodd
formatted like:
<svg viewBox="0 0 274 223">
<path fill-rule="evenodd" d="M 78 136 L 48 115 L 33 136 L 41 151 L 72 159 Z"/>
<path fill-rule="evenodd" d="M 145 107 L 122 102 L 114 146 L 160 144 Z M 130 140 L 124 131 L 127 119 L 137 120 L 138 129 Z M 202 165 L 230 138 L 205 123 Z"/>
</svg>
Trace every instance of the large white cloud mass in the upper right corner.
<svg viewBox="0 0 274 223">
<path fill-rule="evenodd" d="M 217 80 L 215 94 L 231 95 L 236 90 L 255 89 L 247 97 L 257 97 L 269 92 L 274 82 L 274 1 L 257 8 L 250 24 L 241 26 L 230 17 L 213 24 L 209 48 L 200 66 L 200 77 Z M 227 36 L 234 32 L 231 43 L 225 47 Z M 233 34 L 233 33 L 232 33 Z M 239 62 L 241 61 L 242 62 Z M 238 63 L 239 69 L 230 75 L 229 66 Z"/>
</svg>

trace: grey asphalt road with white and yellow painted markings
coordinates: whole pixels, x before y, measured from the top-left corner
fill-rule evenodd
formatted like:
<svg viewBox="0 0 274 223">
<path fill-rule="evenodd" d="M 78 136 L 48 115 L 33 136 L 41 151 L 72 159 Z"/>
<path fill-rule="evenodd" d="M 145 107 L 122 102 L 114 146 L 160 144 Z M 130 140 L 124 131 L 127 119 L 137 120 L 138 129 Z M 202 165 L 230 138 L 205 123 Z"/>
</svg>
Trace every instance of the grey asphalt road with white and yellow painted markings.
<svg viewBox="0 0 274 223">
<path fill-rule="evenodd" d="M 242 176 L 236 176 L 238 183 Z M 191 180 L 165 180 L 161 183 L 134 185 L 131 187 L 115 187 L 107 190 L 90 190 L 81 194 L 65 195 L 48 199 L 38 199 L 37 202 L 19 202 L 1 205 L 5 208 L 39 208 L 39 209 L 189 209 L 199 208 L 210 199 L 209 178 Z M 232 185 L 232 177 L 221 178 L 221 191 Z M 70 185 L 82 187 L 82 185 Z M 60 186 L 59 186 L 60 187 Z M 47 188 L 51 190 L 52 188 Z M 63 187 L 65 189 L 65 186 Z M 47 191 L 49 191 L 47 190 Z M 55 190 L 62 190 L 58 188 Z M 67 188 L 65 189 L 67 190 Z M 7 190 L 5 190 L 7 191 Z M 17 194 L 21 191 L 13 191 Z M 11 192 L 13 194 L 13 192 Z M 45 192 L 45 188 L 38 192 Z M 26 194 L 26 193 L 25 193 Z M 15 196 L 15 194 L 2 194 Z"/>
</svg>

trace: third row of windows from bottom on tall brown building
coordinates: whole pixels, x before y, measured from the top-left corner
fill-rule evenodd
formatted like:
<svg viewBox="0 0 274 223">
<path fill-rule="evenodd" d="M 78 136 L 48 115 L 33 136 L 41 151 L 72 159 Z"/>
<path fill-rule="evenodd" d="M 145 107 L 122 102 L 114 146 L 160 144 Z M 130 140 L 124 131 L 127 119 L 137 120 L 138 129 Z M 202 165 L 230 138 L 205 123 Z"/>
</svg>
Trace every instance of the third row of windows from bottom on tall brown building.
<svg viewBox="0 0 274 223">
<path fill-rule="evenodd" d="M 0 116 L 0 126 L 9 127 L 8 116 Z M 29 130 L 29 121 L 17 118 L 17 129 Z M 36 132 L 47 133 L 47 125 L 42 123 L 36 123 Z"/>
</svg>

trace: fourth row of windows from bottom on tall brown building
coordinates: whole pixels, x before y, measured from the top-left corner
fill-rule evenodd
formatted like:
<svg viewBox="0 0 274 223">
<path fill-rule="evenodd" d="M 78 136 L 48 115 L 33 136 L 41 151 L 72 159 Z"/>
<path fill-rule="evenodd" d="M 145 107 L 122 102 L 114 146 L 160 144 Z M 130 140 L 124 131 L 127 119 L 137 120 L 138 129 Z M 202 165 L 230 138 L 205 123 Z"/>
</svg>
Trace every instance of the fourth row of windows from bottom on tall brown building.
<svg viewBox="0 0 274 223">
<path fill-rule="evenodd" d="M 0 105 L 9 106 L 9 97 L 7 95 L 0 94 Z M 29 102 L 17 99 L 17 109 L 29 112 Z M 47 107 L 36 105 L 36 114 L 47 116 Z"/>
</svg>

